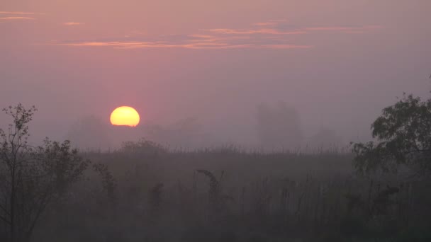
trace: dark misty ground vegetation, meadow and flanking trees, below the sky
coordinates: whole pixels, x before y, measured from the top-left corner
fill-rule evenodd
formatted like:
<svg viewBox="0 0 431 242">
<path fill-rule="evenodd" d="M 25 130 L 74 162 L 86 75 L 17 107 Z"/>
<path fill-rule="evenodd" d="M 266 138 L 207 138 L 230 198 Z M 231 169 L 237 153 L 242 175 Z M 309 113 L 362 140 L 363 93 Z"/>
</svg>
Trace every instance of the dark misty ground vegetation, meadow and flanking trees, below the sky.
<svg viewBox="0 0 431 242">
<path fill-rule="evenodd" d="M 1 241 L 430 241 L 430 103 L 385 108 L 371 126 L 378 144 L 314 153 L 147 139 L 108 152 L 33 147 L 35 108 L 10 107 Z"/>
</svg>

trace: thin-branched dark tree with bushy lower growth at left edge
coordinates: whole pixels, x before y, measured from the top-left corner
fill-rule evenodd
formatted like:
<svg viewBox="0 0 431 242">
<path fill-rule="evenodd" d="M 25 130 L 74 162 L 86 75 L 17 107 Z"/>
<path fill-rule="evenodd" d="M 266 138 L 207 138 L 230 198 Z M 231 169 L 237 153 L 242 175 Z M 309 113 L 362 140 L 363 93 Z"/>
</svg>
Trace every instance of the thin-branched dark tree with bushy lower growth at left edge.
<svg viewBox="0 0 431 242">
<path fill-rule="evenodd" d="M 18 104 L 4 112 L 13 118 L 8 132 L 0 129 L 0 220 L 4 241 L 29 241 L 47 206 L 65 195 L 67 189 L 89 166 L 69 141 L 45 139 L 42 146 L 28 144 L 28 123 L 36 108 Z"/>
</svg>

